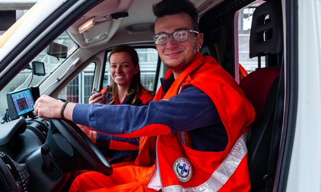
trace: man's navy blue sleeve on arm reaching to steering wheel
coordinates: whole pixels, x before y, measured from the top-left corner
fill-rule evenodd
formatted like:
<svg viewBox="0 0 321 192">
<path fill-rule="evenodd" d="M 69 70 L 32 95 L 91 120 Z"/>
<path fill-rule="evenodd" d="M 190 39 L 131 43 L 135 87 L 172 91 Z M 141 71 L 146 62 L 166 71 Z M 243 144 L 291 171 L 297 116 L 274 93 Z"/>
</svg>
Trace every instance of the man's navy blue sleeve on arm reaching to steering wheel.
<svg viewBox="0 0 321 192">
<path fill-rule="evenodd" d="M 148 106 L 76 104 L 73 121 L 108 134 L 131 133 L 151 124 L 166 125 L 175 133 L 216 124 L 220 117 L 202 90 L 188 86 L 175 97 Z"/>
</svg>

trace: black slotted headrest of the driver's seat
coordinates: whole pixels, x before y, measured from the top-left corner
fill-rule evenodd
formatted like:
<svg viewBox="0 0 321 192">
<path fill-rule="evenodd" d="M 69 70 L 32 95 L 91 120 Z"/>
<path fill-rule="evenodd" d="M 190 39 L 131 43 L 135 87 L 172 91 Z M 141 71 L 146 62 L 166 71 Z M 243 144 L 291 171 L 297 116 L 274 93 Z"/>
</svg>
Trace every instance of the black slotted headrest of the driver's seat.
<svg viewBox="0 0 321 192">
<path fill-rule="evenodd" d="M 279 54 L 283 50 L 282 8 L 279 3 L 266 2 L 252 15 L 250 58 Z"/>
</svg>

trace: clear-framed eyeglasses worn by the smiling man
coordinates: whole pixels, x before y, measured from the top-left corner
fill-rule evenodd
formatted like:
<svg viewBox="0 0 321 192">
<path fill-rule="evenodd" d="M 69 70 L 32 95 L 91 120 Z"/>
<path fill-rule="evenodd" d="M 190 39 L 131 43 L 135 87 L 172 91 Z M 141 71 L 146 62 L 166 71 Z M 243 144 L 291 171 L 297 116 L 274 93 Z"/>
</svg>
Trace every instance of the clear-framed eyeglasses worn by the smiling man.
<svg viewBox="0 0 321 192">
<path fill-rule="evenodd" d="M 152 35 L 152 38 L 154 39 L 155 43 L 158 45 L 166 44 L 170 36 L 173 37 L 175 42 L 181 43 L 181 42 L 187 41 L 188 34 L 190 32 L 199 34 L 199 32 L 194 30 L 183 29 L 183 30 L 175 31 L 173 33 L 158 33 L 156 35 Z"/>
</svg>

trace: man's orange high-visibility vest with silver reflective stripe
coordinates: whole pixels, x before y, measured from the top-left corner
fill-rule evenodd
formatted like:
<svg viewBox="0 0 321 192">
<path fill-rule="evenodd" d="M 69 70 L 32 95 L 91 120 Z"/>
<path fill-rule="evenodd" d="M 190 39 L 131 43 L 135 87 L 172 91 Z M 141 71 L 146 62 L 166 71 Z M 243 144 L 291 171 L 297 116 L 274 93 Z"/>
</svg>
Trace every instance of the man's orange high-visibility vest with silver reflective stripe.
<svg viewBox="0 0 321 192">
<path fill-rule="evenodd" d="M 160 89 L 154 100 L 167 100 L 185 86 L 205 92 L 215 104 L 228 135 L 222 152 L 196 151 L 187 146 L 187 132 L 141 137 L 136 165 L 156 167 L 148 187 L 163 191 L 248 191 L 246 133 L 255 112 L 234 79 L 211 57 L 197 54 L 169 90 Z M 202 121 L 202 119 L 200 119 Z"/>
</svg>

